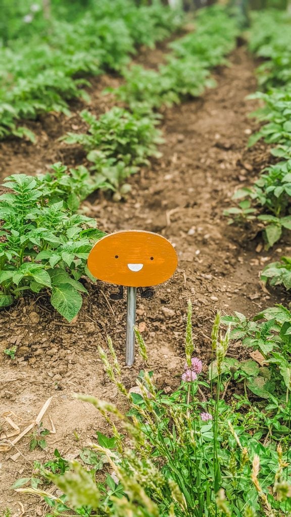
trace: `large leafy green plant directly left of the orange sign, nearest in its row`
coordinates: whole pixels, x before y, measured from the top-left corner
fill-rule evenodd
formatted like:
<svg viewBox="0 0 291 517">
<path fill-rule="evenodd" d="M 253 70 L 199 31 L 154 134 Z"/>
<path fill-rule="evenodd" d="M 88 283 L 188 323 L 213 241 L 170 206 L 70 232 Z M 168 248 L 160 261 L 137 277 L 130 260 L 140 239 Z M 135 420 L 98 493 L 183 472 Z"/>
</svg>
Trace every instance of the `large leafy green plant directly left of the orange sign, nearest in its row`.
<svg viewBox="0 0 291 517">
<path fill-rule="evenodd" d="M 55 173 L 60 169 L 56 164 Z M 50 197 L 46 176 L 14 174 L 5 179 L 12 192 L 0 196 L 0 306 L 11 305 L 25 290 L 46 290 L 53 307 L 71 321 L 82 305 L 80 292 L 86 293 L 79 281 L 87 272 L 86 258 L 93 240 L 104 234 L 94 219 L 72 215 L 68 205 L 74 190 L 65 181 L 59 189 L 53 183 Z"/>
</svg>

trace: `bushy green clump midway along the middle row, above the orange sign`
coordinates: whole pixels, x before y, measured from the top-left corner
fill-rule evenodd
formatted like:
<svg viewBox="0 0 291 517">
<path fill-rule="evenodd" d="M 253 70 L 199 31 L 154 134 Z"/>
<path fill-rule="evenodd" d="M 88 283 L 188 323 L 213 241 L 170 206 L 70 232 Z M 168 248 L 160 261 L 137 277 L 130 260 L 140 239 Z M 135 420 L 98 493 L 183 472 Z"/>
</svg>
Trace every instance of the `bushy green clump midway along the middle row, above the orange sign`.
<svg viewBox="0 0 291 517">
<path fill-rule="evenodd" d="M 159 156 L 156 144 L 161 143 L 161 133 L 155 120 L 140 117 L 123 108 L 112 108 L 98 119 L 89 113 L 81 113 L 89 125 L 89 133 L 68 133 L 68 144 L 81 144 L 93 162 L 91 170 L 97 184 L 118 189 L 120 183 L 133 174 L 141 164 L 148 164 L 150 156 Z"/>
</svg>

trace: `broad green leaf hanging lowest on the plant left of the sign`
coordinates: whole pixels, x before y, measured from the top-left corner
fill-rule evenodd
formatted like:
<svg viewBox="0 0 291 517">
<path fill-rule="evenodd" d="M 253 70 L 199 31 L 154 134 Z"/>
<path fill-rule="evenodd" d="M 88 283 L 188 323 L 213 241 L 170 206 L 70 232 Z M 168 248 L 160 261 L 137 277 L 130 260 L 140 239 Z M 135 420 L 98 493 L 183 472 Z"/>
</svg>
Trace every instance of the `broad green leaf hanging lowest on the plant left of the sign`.
<svg viewBox="0 0 291 517">
<path fill-rule="evenodd" d="M 52 288 L 51 304 L 68 322 L 71 322 L 82 307 L 82 296 L 70 284 L 55 285 Z"/>
</svg>

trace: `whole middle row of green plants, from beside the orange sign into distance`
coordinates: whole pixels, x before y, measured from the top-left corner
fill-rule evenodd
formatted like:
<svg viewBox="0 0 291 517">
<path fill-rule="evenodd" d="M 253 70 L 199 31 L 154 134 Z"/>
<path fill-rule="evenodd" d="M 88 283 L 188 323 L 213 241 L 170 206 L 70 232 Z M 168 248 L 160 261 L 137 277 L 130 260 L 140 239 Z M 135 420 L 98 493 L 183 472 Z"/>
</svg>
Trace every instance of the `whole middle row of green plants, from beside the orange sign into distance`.
<svg viewBox="0 0 291 517">
<path fill-rule="evenodd" d="M 215 55 L 210 51 L 215 34 Z M 171 44 L 173 53 L 157 72 L 131 67 L 114 95 L 127 108 L 113 108 L 99 119 L 83 112 L 89 134 L 68 134 L 80 143 L 92 162 L 67 171 L 55 164 L 50 174 L 12 175 L 5 186 L 12 192 L 0 197 L 0 306 L 10 306 L 23 291 L 51 294 L 53 307 L 68 321 L 82 305 L 86 290 L 81 277 L 94 280 L 86 268 L 93 243 L 104 235 L 96 221 L 77 214 L 80 202 L 97 188 L 120 187 L 147 158 L 156 154 L 161 133 L 156 128 L 162 105 L 181 102 L 213 85 L 210 68 L 225 64 L 236 43 L 235 20 L 221 8 L 199 13 L 194 33 Z M 53 229 L 53 230 L 52 230 Z"/>
</svg>

